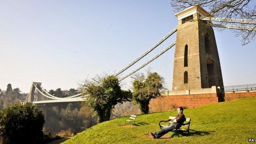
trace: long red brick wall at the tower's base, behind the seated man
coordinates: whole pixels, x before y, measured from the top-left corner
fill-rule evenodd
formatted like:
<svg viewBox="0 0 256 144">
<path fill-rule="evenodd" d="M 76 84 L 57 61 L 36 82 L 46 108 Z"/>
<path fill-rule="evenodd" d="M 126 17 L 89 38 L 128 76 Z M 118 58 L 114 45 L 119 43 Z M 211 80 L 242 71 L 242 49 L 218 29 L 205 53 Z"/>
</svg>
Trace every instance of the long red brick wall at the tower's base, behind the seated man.
<svg viewBox="0 0 256 144">
<path fill-rule="evenodd" d="M 217 94 L 190 94 L 177 96 L 161 96 L 151 99 L 150 112 L 176 109 L 178 106 L 187 108 L 199 107 L 210 103 L 218 103 Z"/>
</svg>

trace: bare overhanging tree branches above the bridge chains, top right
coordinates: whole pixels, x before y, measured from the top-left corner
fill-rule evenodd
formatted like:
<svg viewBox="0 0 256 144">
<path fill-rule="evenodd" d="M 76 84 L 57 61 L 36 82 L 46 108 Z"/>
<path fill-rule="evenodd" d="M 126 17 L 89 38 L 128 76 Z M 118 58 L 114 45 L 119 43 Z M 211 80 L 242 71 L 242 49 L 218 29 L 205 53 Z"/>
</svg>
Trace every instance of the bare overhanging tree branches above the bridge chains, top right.
<svg viewBox="0 0 256 144">
<path fill-rule="evenodd" d="M 237 18 L 256 21 L 256 5 L 253 0 L 171 0 L 171 6 L 175 12 L 187 7 L 200 5 L 208 10 L 210 15 L 217 18 Z M 221 24 L 226 24 L 223 22 Z M 233 24 L 234 25 L 234 24 Z M 252 30 L 233 30 L 236 36 L 241 36 L 242 45 L 255 40 L 256 25 L 241 24 L 241 26 L 253 27 Z"/>
</svg>

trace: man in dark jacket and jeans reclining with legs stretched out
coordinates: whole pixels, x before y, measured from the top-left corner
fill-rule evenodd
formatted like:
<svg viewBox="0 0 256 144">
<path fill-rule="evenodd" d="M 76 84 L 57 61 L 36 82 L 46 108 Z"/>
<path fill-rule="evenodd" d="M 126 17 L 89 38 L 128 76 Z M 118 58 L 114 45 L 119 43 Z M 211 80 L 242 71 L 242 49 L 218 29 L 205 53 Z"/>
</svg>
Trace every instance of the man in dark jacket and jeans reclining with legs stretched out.
<svg viewBox="0 0 256 144">
<path fill-rule="evenodd" d="M 177 112 L 178 112 L 178 116 L 176 117 L 176 119 L 174 119 L 171 125 L 166 126 L 155 133 L 149 132 L 149 134 L 154 139 L 159 139 L 163 135 L 167 134 L 169 131 L 174 130 L 177 124 L 179 125 L 178 128 L 180 128 L 183 122 L 186 120 L 185 115 L 183 114 L 183 107 L 178 107 Z"/>
</svg>

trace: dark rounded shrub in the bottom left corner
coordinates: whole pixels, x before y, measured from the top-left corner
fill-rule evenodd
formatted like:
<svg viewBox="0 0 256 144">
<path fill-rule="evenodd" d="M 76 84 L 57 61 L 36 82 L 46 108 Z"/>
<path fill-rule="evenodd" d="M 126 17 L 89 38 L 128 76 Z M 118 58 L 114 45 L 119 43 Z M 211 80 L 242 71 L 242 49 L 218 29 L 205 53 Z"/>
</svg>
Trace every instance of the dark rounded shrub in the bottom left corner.
<svg viewBox="0 0 256 144">
<path fill-rule="evenodd" d="M 3 144 L 43 142 L 44 116 L 36 105 L 14 104 L 0 111 L 0 138 Z"/>
</svg>

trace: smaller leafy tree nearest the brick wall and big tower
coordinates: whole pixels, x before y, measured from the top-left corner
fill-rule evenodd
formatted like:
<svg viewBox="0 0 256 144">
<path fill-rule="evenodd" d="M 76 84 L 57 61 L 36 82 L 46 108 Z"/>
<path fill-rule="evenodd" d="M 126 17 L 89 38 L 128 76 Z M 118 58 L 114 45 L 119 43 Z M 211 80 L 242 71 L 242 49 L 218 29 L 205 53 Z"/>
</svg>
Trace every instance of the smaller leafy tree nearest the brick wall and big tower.
<svg viewBox="0 0 256 144">
<path fill-rule="evenodd" d="M 142 113 L 149 113 L 151 98 L 160 96 L 164 78 L 158 73 L 148 72 L 147 78 L 143 73 L 133 76 L 133 103 L 138 103 Z"/>
</svg>

